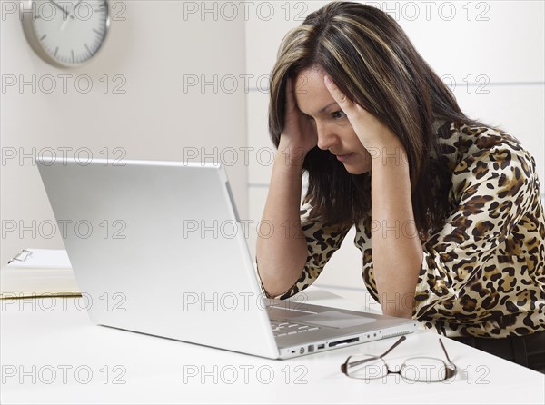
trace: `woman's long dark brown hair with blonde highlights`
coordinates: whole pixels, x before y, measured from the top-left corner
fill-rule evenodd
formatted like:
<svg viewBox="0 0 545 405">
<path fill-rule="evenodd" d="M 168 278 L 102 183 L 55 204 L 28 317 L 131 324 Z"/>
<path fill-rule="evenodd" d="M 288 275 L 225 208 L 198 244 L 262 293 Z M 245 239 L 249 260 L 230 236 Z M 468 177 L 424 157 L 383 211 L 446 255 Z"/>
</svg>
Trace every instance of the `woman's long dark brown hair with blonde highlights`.
<svg viewBox="0 0 545 405">
<path fill-rule="evenodd" d="M 277 147 L 287 79 L 313 66 L 400 138 L 410 165 L 416 227 L 421 237 L 427 236 L 450 211 L 451 173 L 432 125 L 437 120 L 481 123 L 461 112 L 450 89 L 390 15 L 370 5 L 333 2 L 308 15 L 282 40 L 269 105 L 269 132 Z M 318 147 L 307 153 L 303 170 L 309 173 L 306 200 L 314 207 L 312 216 L 345 224 L 370 219 L 369 173 L 348 173 L 332 153 Z"/>
</svg>

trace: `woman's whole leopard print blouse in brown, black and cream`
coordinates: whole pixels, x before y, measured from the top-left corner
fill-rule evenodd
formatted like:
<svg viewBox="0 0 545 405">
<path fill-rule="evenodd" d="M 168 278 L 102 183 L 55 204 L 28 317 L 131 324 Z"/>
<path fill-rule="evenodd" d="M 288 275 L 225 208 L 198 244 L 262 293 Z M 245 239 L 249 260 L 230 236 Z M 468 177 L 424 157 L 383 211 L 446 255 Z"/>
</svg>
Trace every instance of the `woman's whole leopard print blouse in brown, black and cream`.
<svg viewBox="0 0 545 405">
<path fill-rule="evenodd" d="M 533 157 L 507 133 L 435 123 L 452 173 L 450 216 L 422 243 L 412 318 L 449 336 L 505 337 L 545 330 L 545 212 Z M 349 228 L 310 221 L 308 257 L 286 299 L 316 280 Z M 356 223 L 362 277 L 373 299 L 371 231 Z M 266 293 L 266 292 L 265 292 Z"/>
</svg>

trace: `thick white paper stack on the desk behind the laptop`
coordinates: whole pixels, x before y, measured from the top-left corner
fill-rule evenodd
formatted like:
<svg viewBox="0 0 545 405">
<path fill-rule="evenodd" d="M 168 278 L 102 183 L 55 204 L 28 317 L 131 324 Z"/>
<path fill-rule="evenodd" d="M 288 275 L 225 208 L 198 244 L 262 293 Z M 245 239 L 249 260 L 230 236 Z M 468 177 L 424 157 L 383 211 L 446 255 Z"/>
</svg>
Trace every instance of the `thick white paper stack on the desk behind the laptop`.
<svg viewBox="0 0 545 405">
<path fill-rule="evenodd" d="M 81 295 L 64 250 L 25 249 L 0 269 L 0 299 Z"/>
</svg>

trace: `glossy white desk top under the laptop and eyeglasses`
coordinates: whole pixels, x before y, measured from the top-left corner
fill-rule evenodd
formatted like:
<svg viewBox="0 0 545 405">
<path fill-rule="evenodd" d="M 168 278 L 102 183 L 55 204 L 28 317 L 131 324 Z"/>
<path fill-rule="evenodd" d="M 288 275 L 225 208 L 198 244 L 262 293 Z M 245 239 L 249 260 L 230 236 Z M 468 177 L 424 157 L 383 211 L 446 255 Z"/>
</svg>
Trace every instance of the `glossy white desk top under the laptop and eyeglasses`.
<svg viewBox="0 0 545 405">
<path fill-rule="evenodd" d="M 312 303 L 360 308 L 317 287 L 305 292 Z M 395 338 L 270 361 L 95 326 L 74 298 L 47 299 L 35 309 L 29 302 L 0 301 L 4 404 L 545 402 L 542 374 L 448 339 L 459 369 L 449 383 L 395 375 L 363 381 L 344 376 L 341 363 L 358 352 L 380 354 Z M 443 358 L 437 335 L 408 335 L 386 360 L 395 367 L 419 354 Z"/>
</svg>

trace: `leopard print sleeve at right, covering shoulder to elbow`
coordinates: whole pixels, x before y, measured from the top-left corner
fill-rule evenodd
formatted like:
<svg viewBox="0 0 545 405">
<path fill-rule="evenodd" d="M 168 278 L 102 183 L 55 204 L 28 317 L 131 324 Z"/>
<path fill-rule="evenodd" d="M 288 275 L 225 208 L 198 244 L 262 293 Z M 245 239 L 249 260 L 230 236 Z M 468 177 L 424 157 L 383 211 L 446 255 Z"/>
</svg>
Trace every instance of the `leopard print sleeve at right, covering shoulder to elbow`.
<svg viewBox="0 0 545 405">
<path fill-rule="evenodd" d="M 539 180 L 530 153 L 514 138 L 501 135 L 477 140 L 477 152 L 454 168 L 451 196 L 455 206 L 441 230 L 422 246 L 413 318 L 451 313 L 455 305 L 461 317 L 464 310 L 471 312 L 475 303 L 464 302 L 465 289 L 494 271 L 495 260 L 487 261 L 495 255 L 513 254 L 502 252 L 503 242 L 530 210 L 539 193 Z"/>
</svg>

